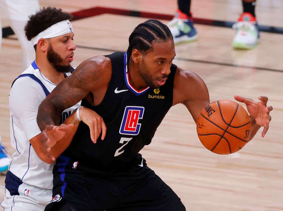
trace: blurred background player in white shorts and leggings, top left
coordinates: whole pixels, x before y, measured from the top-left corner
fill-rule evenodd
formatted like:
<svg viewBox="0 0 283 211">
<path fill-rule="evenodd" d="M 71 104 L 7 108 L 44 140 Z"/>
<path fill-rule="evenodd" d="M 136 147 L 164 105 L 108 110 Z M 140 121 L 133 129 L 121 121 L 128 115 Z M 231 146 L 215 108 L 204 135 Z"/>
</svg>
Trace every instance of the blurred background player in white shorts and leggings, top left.
<svg viewBox="0 0 283 211">
<path fill-rule="evenodd" d="M 10 20 L 13 29 L 22 48 L 22 67 L 27 69 L 35 59 L 35 51 L 31 41 L 25 38 L 24 26 L 28 16 L 35 14 L 40 9 L 38 0 L 0 0 L 0 16 Z M 0 22 L 0 27 L 1 22 Z M 0 49 L 2 43 L 2 29 L 0 29 Z"/>
</svg>

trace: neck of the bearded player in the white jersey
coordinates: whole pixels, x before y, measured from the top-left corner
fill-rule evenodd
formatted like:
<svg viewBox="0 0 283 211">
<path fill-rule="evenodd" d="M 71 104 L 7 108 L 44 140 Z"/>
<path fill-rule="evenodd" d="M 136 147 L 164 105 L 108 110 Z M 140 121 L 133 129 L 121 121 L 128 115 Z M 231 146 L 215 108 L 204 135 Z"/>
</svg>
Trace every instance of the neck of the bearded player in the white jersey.
<svg viewBox="0 0 283 211">
<path fill-rule="evenodd" d="M 58 85 L 65 78 L 64 73 L 58 72 L 48 61 L 46 56 L 45 58 L 37 56 L 35 62 L 40 72 L 53 84 Z"/>
</svg>

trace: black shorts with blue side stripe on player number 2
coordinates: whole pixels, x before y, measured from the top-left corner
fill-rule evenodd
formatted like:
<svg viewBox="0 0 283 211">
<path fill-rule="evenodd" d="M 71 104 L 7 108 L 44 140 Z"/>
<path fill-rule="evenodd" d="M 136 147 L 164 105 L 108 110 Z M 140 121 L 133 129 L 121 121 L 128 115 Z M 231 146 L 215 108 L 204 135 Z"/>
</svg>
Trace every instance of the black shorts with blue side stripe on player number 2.
<svg viewBox="0 0 283 211">
<path fill-rule="evenodd" d="M 53 169 L 53 199 L 45 211 L 185 211 L 173 190 L 141 156 L 130 169 L 105 174 L 60 156 Z M 140 165 L 138 165 L 140 164 Z M 90 173 L 91 172 L 91 173 Z"/>
</svg>

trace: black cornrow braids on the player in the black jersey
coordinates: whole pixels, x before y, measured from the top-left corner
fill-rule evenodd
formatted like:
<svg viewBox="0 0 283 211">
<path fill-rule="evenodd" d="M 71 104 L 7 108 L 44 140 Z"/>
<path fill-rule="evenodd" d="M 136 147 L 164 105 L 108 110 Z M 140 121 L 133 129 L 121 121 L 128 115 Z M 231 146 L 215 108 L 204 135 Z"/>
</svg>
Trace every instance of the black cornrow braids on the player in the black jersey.
<svg viewBox="0 0 283 211">
<path fill-rule="evenodd" d="M 152 48 L 154 41 L 173 40 L 170 29 L 158 20 L 147 20 L 139 24 L 129 37 L 129 47 L 127 50 L 127 65 L 134 48 L 145 52 Z"/>
</svg>

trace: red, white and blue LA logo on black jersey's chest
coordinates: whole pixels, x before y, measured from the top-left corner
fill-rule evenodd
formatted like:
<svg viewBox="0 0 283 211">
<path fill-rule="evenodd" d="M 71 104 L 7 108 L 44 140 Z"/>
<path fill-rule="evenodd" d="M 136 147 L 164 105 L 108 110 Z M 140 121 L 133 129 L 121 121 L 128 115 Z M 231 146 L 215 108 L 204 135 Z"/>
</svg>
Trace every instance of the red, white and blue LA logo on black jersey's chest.
<svg viewBox="0 0 283 211">
<path fill-rule="evenodd" d="M 143 118 L 143 112 L 144 107 L 126 106 L 119 133 L 124 135 L 138 135 L 141 127 L 138 121 Z"/>
</svg>

